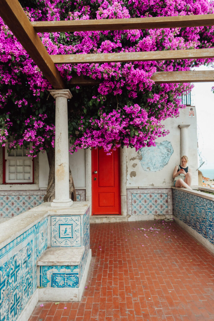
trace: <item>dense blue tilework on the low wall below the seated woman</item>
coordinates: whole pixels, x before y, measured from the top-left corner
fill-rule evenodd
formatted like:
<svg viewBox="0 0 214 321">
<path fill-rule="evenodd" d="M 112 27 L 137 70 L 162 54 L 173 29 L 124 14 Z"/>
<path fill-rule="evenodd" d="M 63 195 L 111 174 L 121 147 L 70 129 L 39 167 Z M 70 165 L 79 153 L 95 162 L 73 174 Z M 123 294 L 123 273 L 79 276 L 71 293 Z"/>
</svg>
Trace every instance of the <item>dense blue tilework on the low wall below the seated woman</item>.
<svg viewBox="0 0 214 321">
<path fill-rule="evenodd" d="M 173 189 L 173 215 L 214 244 L 214 201 Z"/>
</svg>

